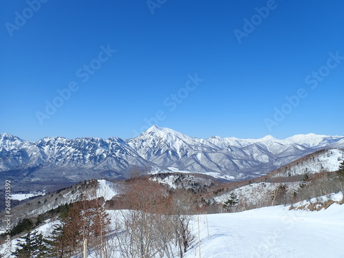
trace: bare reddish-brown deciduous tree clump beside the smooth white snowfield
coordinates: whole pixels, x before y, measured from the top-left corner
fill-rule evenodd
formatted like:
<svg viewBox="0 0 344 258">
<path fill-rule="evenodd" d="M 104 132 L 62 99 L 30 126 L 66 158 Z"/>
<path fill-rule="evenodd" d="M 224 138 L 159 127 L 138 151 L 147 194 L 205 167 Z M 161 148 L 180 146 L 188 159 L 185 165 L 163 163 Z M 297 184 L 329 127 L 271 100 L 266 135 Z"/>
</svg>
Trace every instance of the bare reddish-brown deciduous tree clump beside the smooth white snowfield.
<svg viewBox="0 0 344 258">
<path fill-rule="evenodd" d="M 175 257 L 174 245 L 182 257 L 191 239 L 191 198 L 181 192 L 171 196 L 148 178 L 131 180 L 126 196 L 129 211 L 118 234 L 122 257 Z"/>
</svg>

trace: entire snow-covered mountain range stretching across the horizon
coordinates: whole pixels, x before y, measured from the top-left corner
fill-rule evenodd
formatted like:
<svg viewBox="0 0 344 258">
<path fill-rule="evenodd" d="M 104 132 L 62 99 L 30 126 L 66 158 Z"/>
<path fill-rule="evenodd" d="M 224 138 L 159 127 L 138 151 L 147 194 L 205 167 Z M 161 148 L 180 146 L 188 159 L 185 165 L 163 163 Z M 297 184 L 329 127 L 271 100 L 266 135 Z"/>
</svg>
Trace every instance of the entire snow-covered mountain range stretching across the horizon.
<svg viewBox="0 0 344 258">
<path fill-rule="evenodd" d="M 278 169 L 319 149 L 344 149 L 344 136 L 314 133 L 284 140 L 193 138 L 153 126 L 140 136 L 120 138 L 46 137 L 38 142 L 0 134 L 0 177 L 16 182 L 78 182 L 126 178 L 133 168 L 188 171 L 244 180 Z M 2 176 L 1 176 L 2 175 Z"/>
</svg>

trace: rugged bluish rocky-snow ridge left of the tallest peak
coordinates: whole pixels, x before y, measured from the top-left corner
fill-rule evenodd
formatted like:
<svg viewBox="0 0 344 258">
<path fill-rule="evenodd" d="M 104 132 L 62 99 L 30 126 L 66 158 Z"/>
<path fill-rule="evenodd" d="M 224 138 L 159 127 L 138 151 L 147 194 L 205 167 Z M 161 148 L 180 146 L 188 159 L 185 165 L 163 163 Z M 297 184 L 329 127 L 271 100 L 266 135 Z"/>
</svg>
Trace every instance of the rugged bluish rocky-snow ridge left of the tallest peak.
<svg viewBox="0 0 344 258">
<path fill-rule="evenodd" d="M 111 173 L 125 176 L 130 166 L 150 164 L 120 138 L 43 138 L 28 142 L 15 136 L 0 136 L 0 171 L 21 171 L 5 175 L 19 182 L 78 182 Z"/>
</svg>

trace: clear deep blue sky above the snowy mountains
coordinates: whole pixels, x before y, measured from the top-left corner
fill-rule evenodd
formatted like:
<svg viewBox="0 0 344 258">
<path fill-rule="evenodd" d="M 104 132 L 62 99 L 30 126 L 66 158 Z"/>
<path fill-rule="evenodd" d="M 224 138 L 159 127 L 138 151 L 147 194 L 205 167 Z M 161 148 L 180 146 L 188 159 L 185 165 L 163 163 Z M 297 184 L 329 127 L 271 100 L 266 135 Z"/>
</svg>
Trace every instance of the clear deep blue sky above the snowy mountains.
<svg viewBox="0 0 344 258">
<path fill-rule="evenodd" d="M 344 134 L 342 1 L 37 1 L 0 3 L 1 133 Z"/>
</svg>

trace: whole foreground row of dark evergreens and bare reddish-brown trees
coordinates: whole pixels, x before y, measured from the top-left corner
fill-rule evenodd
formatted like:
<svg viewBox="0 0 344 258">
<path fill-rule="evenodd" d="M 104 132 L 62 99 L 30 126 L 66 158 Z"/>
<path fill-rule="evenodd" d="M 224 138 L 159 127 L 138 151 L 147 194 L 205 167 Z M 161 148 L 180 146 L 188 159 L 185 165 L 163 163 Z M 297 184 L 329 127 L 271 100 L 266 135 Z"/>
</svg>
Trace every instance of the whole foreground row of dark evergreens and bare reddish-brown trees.
<svg viewBox="0 0 344 258">
<path fill-rule="evenodd" d="M 18 241 L 14 257 L 81 255 L 83 243 L 92 257 L 183 257 L 194 236 L 191 214 L 197 204 L 189 191 L 168 192 L 148 178 L 127 185 L 127 209 L 109 213 L 103 198 L 75 202 L 58 216 L 48 235 L 34 227 Z"/>
</svg>

